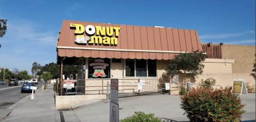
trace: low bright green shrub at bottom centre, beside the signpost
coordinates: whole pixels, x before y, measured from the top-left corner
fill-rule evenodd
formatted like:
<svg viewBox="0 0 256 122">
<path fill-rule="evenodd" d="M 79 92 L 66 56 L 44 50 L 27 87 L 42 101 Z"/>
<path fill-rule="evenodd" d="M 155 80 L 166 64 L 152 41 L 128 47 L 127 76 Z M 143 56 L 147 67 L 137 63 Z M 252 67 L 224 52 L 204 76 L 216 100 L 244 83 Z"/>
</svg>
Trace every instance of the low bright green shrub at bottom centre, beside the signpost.
<svg viewBox="0 0 256 122">
<path fill-rule="evenodd" d="M 144 112 L 134 112 L 135 115 L 133 115 L 132 117 L 127 117 L 124 118 L 123 120 L 121 120 L 122 122 L 128 122 L 128 121 L 154 121 L 154 122 L 161 122 L 162 120 L 159 119 L 158 117 L 154 117 L 154 113 L 150 113 L 150 114 L 145 114 Z"/>
</svg>

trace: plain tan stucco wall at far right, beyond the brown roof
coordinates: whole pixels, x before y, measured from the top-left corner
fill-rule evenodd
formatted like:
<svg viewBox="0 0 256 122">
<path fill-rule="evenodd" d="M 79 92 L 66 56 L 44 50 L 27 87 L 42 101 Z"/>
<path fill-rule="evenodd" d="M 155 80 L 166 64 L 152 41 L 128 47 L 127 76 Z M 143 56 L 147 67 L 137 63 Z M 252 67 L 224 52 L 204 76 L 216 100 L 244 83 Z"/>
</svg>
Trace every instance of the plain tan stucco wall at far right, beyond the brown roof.
<svg viewBox="0 0 256 122">
<path fill-rule="evenodd" d="M 222 45 L 222 57 L 235 59 L 232 64 L 232 73 L 255 73 L 252 72 L 255 63 L 255 46 L 251 45 Z"/>
</svg>

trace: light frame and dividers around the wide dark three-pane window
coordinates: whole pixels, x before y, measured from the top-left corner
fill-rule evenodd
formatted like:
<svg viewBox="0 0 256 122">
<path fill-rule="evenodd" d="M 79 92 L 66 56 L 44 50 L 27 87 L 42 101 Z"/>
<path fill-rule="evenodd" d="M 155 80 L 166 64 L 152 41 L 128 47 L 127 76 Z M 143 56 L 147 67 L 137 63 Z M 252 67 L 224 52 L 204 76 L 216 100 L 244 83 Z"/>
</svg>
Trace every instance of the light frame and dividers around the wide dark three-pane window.
<svg viewBox="0 0 256 122">
<path fill-rule="evenodd" d="M 155 69 L 156 69 L 156 76 L 155 77 L 148 77 L 148 59 L 146 60 L 146 68 L 147 68 L 147 77 L 136 77 L 136 59 L 134 59 L 134 77 L 126 77 L 126 59 L 123 60 L 123 78 L 157 78 L 157 60 L 155 59 Z"/>
</svg>

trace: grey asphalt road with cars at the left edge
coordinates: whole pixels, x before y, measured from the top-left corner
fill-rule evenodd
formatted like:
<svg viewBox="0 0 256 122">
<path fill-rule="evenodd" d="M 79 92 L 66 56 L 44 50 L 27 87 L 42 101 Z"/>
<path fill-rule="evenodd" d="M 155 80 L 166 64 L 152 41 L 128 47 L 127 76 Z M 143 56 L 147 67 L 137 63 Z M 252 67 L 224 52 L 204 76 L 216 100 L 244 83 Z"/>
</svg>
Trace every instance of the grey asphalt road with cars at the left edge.
<svg viewBox="0 0 256 122">
<path fill-rule="evenodd" d="M 22 85 L 23 83 L 19 83 L 19 86 L 0 85 L 0 110 L 7 109 L 12 104 L 32 93 L 20 93 Z M 37 89 L 42 87 L 42 85 L 44 85 L 44 82 L 39 82 L 36 85 Z"/>
</svg>

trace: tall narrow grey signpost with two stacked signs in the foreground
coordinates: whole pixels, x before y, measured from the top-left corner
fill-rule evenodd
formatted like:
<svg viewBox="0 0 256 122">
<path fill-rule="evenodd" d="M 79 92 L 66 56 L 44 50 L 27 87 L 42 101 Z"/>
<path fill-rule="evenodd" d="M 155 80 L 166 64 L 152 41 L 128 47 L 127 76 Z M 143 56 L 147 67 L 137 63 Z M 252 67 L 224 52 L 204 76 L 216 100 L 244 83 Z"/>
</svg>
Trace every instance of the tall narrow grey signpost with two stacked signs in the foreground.
<svg viewBox="0 0 256 122">
<path fill-rule="evenodd" d="M 109 121 L 118 122 L 119 121 L 118 79 L 111 79 L 110 98 L 111 98 L 111 101 L 110 101 Z"/>
</svg>

